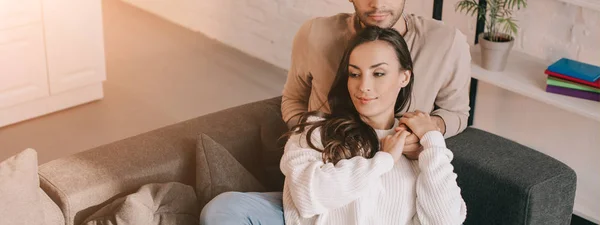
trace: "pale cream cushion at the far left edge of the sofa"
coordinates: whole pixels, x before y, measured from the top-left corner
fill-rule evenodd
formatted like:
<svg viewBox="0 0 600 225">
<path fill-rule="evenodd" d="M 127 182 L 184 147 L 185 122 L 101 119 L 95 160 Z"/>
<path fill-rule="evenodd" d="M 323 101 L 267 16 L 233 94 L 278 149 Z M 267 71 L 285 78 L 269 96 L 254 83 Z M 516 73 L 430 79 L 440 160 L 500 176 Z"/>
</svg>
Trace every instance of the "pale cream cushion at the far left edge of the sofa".
<svg viewBox="0 0 600 225">
<path fill-rule="evenodd" d="M 40 206 L 37 152 L 26 149 L 0 162 L 0 218 L 2 224 L 44 223 Z"/>
</svg>

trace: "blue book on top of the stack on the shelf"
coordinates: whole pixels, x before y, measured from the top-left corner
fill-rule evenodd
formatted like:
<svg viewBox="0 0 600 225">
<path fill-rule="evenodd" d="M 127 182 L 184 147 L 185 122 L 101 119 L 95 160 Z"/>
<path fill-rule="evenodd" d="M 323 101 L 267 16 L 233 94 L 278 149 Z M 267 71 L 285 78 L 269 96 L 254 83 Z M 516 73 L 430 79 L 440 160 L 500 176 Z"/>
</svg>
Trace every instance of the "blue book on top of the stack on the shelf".
<svg viewBox="0 0 600 225">
<path fill-rule="evenodd" d="M 595 82 L 600 78 L 600 67 L 562 58 L 548 67 L 548 70 L 573 78 Z"/>
</svg>

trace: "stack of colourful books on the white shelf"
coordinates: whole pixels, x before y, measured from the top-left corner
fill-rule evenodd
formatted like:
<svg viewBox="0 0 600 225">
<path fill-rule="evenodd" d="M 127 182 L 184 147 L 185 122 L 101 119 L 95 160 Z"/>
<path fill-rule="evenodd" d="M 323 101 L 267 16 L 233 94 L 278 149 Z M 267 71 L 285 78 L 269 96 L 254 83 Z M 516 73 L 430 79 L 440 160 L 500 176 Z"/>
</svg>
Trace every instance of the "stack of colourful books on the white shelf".
<svg viewBox="0 0 600 225">
<path fill-rule="evenodd" d="M 562 58 L 544 73 L 546 92 L 600 102 L 600 67 Z"/>
</svg>

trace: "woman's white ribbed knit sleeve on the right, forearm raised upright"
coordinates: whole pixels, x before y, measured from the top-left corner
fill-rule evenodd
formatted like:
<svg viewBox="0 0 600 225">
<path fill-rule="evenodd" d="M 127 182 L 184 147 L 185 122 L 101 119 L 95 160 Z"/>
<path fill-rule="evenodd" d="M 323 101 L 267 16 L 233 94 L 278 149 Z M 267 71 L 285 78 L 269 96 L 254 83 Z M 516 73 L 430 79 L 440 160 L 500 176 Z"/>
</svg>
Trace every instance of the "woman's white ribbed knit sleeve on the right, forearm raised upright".
<svg viewBox="0 0 600 225">
<path fill-rule="evenodd" d="M 417 162 L 417 224 L 462 224 L 467 208 L 450 164 L 454 155 L 438 131 L 427 132 L 421 145 L 425 150 Z"/>
</svg>

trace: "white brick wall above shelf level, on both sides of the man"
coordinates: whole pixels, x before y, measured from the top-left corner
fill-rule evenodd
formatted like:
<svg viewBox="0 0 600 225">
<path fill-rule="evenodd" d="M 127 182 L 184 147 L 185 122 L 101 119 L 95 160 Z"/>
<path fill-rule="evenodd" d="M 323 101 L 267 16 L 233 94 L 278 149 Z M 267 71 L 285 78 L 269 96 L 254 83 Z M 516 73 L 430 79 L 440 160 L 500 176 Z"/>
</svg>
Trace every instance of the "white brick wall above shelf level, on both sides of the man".
<svg viewBox="0 0 600 225">
<path fill-rule="evenodd" d="M 347 0 L 124 0 L 282 68 L 302 23 L 317 16 L 352 12 Z M 475 35 L 475 18 L 444 1 L 444 22 Z M 430 17 L 433 0 L 407 0 L 407 12 Z M 515 49 L 548 60 L 570 57 L 600 64 L 600 12 L 556 0 L 530 0 L 517 13 Z"/>
</svg>

